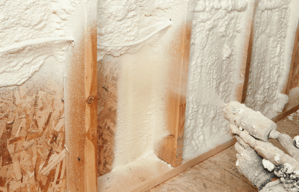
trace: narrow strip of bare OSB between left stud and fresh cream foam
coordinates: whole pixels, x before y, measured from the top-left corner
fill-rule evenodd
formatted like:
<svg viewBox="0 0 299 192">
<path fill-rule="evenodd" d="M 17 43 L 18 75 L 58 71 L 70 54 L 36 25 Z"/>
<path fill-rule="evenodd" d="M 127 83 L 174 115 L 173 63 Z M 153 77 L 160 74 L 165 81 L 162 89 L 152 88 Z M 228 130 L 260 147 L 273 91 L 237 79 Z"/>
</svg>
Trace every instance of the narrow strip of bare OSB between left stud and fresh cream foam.
<svg viewBox="0 0 299 192">
<path fill-rule="evenodd" d="M 114 159 L 119 68 L 113 56 L 105 56 L 97 68 L 97 176 L 101 176 L 111 171 Z"/>
</svg>

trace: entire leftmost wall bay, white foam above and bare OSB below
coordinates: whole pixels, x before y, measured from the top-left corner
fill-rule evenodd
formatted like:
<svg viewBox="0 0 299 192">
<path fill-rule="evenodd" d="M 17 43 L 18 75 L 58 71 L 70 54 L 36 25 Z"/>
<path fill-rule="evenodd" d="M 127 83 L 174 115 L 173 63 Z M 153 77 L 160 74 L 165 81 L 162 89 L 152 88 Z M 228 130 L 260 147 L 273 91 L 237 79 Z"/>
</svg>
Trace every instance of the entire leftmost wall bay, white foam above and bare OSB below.
<svg viewBox="0 0 299 192">
<path fill-rule="evenodd" d="M 70 79 L 66 66 L 72 67 L 70 53 L 80 46 L 91 18 L 86 10 L 96 13 L 90 4 L 85 0 L 0 3 L 1 190 L 66 190 L 70 164 L 64 158 L 65 130 L 73 130 L 65 126 L 70 119 L 65 113 L 69 103 L 65 80 Z"/>
</svg>

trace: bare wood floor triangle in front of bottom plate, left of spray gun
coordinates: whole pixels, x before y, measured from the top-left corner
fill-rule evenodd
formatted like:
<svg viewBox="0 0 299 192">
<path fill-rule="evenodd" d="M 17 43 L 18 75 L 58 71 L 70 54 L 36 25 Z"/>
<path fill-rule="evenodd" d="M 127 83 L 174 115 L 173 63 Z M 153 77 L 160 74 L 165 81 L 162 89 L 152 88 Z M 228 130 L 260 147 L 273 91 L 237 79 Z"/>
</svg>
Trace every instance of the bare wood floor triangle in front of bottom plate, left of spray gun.
<svg viewBox="0 0 299 192">
<path fill-rule="evenodd" d="M 234 150 L 234 146 L 232 146 Z M 236 154 L 234 154 L 236 156 Z M 231 162 L 230 162 L 231 163 Z M 219 165 L 206 159 L 192 168 L 157 185 L 146 192 L 164 191 L 242 191 L 257 192 L 257 189 Z M 245 178 L 246 179 L 246 178 Z"/>
</svg>

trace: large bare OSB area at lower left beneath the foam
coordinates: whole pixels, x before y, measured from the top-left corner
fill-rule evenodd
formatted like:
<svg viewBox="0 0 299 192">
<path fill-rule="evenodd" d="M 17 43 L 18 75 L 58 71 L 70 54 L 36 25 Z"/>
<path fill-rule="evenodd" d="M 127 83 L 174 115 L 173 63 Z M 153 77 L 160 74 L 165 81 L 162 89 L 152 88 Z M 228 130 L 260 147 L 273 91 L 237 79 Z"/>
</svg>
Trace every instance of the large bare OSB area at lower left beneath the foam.
<svg viewBox="0 0 299 192">
<path fill-rule="evenodd" d="M 65 191 L 62 89 L 55 82 L 0 88 L 0 192 Z"/>
</svg>

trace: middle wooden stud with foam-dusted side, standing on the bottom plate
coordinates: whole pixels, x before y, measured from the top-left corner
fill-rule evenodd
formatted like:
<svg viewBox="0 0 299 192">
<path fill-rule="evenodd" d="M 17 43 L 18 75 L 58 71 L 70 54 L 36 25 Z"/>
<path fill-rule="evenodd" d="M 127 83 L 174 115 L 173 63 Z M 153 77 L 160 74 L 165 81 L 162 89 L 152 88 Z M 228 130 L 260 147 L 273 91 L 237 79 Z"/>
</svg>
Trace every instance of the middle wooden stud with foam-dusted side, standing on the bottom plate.
<svg viewBox="0 0 299 192">
<path fill-rule="evenodd" d="M 183 24 L 170 44 L 164 108 L 164 124 L 169 135 L 155 148 L 155 154 L 174 167 L 181 165 L 182 161 L 191 28 L 192 21 Z"/>
</svg>

